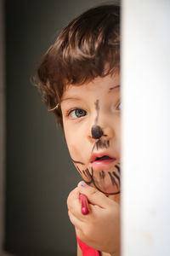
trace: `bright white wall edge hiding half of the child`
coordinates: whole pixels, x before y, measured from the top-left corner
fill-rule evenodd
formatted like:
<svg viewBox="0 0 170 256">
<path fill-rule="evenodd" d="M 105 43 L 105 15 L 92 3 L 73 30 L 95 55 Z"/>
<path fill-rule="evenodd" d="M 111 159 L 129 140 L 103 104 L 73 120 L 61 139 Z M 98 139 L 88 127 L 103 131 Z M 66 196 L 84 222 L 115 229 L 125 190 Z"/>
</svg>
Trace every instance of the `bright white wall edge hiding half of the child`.
<svg viewBox="0 0 170 256">
<path fill-rule="evenodd" d="M 122 256 L 170 255 L 170 1 L 122 1 Z"/>
</svg>

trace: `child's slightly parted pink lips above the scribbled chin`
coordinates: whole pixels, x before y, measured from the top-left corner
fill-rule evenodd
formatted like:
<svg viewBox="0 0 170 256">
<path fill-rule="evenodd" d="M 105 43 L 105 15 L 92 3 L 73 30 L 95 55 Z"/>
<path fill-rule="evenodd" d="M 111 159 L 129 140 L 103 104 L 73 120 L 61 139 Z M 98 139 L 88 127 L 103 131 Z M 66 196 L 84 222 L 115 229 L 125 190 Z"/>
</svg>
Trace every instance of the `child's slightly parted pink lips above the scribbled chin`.
<svg viewBox="0 0 170 256">
<path fill-rule="evenodd" d="M 108 167 L 115 160 L 116 158 L 108 154 L 93 154 L 90 159 L 90 163 L 92 164 L 94 169 L 101 169 Z"/>
</svg>

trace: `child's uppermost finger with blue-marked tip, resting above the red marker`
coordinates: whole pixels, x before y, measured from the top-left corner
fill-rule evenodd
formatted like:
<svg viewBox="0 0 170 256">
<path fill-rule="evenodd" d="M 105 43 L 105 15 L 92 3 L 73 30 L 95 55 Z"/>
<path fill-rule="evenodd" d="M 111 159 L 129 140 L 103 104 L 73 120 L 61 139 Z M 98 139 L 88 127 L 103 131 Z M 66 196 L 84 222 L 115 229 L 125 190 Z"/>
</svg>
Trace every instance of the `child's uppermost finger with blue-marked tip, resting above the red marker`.
<svg viewBox="0 0 170 256">
<path fill-rule="evenodd" d="M 88 201 L 91 204 L 105 208 L 108 207 L 112 202 L 111 199 L 105 196 L 105 194 L 101 193 L 98 189 L 88 186 L 88 184 L 85 182 L 78 183 L 77 188 L 81 194 L 88 197 Z"/>
</svg>

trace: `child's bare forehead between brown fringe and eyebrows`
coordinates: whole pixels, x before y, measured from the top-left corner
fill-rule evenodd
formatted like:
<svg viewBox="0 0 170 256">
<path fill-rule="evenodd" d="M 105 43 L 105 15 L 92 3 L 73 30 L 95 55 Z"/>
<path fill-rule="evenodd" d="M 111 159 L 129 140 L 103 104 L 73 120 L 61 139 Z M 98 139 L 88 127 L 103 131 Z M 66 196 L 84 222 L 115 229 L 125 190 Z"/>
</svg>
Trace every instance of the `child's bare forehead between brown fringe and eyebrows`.
<svg viewBox="0 0 170 256">
<path fill-rule="evenodd" d="M 105 95 L 105 93 L 109 93 L 118 87 L 120 87 L 119 74 L 105 76 L 104 78 L 98 77 L 82 85 L 68 84 L 61 101 L 83 95 Z"/>
</svg>

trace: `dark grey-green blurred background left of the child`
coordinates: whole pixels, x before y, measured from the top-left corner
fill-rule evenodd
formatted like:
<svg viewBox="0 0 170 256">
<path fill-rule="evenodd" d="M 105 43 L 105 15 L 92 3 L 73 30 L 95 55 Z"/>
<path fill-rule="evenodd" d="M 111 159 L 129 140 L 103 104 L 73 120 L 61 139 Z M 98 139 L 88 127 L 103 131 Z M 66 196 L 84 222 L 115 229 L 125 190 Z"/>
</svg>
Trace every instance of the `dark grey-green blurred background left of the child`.
<svg viewBox="0 0 170 256">
<path fill-rule="evenodd" d="M 1 255 L 76 255 L 66 199 L 81 178 L 31 78 L 68 21 L 106 2 L 0 0 Z"/>
</svg>

